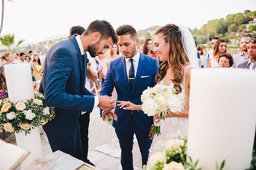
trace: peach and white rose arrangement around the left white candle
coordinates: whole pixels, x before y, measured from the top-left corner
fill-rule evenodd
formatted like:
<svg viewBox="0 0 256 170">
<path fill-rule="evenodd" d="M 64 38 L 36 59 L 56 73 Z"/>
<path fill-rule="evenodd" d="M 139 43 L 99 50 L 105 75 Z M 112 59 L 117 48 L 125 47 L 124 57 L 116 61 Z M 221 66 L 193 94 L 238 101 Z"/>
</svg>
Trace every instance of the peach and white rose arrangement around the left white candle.
<svg viewBox="0 0 256 170">
<path fill-rule="evenodd" d="M 54 108 L 47 107 L 45 96 L 38 92 L 26 102 L 13 103 L 8 98 L 1 99 L 0 108 L 0 128 L 11 133 L 27 134 L 31 128 L 46 124 L 55 116 Z"/>
</svg>

